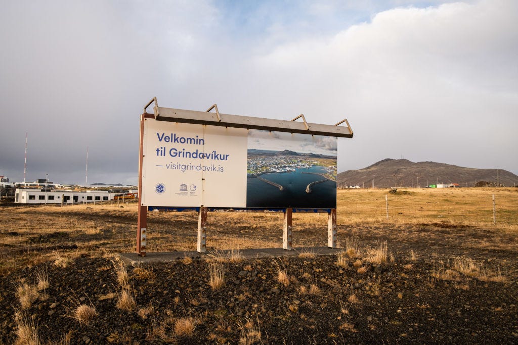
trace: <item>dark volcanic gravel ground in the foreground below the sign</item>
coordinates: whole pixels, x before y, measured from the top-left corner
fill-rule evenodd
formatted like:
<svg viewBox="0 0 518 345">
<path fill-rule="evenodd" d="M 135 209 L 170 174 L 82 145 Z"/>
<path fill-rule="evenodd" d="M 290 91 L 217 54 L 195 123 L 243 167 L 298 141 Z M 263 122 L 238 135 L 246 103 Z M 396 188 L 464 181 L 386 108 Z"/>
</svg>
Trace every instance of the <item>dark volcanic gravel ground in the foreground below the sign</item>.
<svg viewBox="0 0 518 345">
<path fill-rule="evenodd" d="M 0 343 L 16 341 L 16 310 L 34 319 L 42 343 L 64 343 L 67 334 L 78 344 L 246 343 L 247 334 L 249 343 L 270 344 L 517 342 L 514 253 L 476 258 L 493 270 L 503 264 L 513 277 L 506 282 L 434 278 L 434 255 L 423 249 L 411 260 L 393 252 L 392 260 L 368 265 L 365 273 L 353 260 L 338 266 L 337 255 L 226 262 L 225 286 L 215 291 L 203 259 L 128 267 L 137 304 L 132 311 L 116 307 L 121 289 L 113 257 L 84 255 L 66 267 L 48 262 L 2 278 Z M 278 282 L 279 270 L 289 276 L 287 286 Z M 49 287 L 22 310 L 17 286 L 36 283 L 41 272 Z M 79 304 L 97 310 L 88 324 L 72 318 Z M 148 312 L 139 313 L 145 307 Z M 194 319 L 193 335 L 175 335 L 174 322 L 184 317 Z"/>
</svg>

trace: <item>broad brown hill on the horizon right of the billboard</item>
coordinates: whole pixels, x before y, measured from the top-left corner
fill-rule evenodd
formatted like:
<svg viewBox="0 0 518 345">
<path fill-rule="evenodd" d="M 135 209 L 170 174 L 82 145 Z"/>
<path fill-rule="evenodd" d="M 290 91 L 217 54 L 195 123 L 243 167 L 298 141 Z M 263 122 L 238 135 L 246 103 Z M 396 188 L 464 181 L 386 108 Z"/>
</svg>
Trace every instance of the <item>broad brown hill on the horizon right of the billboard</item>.
<svg viewBox="0 0 518 345">
<path fill-rule="evenodd" d="M 413 184 L 412 184 L 413 173 Z M 436 162 L 411 162 L 408 159 L 383 159 L 359 170 L 347 170 L 338 174 L 338 186 L 358 185 L 360 187 L 426 187 L 431 184 L 457 183 L 472 187 L 477 182 L 497 182 L 497 169 L 474 169 Z M 518 185 L 518 176 L 500 169 L 500 185 Z"/>
</svg>

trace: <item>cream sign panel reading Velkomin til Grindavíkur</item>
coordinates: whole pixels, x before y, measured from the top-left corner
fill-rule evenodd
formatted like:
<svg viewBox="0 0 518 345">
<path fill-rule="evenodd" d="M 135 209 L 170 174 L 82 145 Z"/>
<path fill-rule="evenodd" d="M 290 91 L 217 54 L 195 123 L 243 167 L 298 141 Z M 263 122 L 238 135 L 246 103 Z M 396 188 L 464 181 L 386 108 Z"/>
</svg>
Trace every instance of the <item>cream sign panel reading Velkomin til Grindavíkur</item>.
<svg viewBox="0 0 518 345">
<path fill-rule="evenodd" d="M 247 129 L 146 119 L 142 204 L 246 207 Z"/>
</svg>

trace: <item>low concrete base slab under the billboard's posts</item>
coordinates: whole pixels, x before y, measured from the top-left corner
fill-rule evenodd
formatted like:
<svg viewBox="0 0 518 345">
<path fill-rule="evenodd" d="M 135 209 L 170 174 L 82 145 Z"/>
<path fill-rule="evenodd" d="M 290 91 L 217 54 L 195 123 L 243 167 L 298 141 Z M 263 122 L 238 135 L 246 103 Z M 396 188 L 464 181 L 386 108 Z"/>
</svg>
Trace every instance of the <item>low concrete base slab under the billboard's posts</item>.
<svg viewBox="0 0 518 345">
<path fill-rule="evenodd" d="M 304 247 L 293 248 L 293 250 L 284 250 L 282 248 L 263 248 L 263 249 L 240 249 L 239 252 L 244 259 L 261 259 L 261 258 L 278 258 L 283 256 L 297 256 L 303 252 L 313 252 L 316 255 L 330 255 L 341 251 L 341 248 L 328 247 Z M 148 252 L 145 257 L 139 257 L 137 253 L 118 253 L 122 261 L 129 266 L 140 267 L 152 265 L 154 263 L 171 262 L 182 260 L 185 257 L 192 259 L 204 259 L 207 256 L 230 256 L 236 250 L 214 250 L 207 249 L 205 253 L 197 251 L 166 251 L 166 252 Z"/>
</svg>

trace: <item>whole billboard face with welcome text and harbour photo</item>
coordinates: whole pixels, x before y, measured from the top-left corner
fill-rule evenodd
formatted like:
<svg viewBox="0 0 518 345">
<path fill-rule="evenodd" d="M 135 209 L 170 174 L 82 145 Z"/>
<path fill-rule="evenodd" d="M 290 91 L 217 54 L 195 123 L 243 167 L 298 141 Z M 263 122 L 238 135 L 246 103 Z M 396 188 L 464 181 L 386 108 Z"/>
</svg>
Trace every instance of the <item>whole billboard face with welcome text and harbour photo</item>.
<svg viewBox="0 0 518 345">
<path fill-rule="evenodd" d="M 335 208 L 337 138 L 146 118 L 142 204 Z"/>
</svg>

